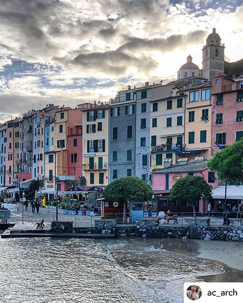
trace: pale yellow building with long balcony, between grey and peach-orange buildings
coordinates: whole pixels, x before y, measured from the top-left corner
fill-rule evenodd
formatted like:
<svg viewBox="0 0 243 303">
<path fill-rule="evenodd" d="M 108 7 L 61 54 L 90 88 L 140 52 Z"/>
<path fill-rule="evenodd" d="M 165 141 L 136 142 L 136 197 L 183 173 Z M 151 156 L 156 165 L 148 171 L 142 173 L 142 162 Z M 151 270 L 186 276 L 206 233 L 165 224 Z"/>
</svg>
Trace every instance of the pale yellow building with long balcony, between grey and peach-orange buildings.
<svg viewBox="0 0 243 303">
<path fill-rule="evenodd" d="M 176 163 L 176 153 L 185 149 L 184 92 L 174 88 L 170 96 L 151 101 L 151 169 Z"/>
</svg>

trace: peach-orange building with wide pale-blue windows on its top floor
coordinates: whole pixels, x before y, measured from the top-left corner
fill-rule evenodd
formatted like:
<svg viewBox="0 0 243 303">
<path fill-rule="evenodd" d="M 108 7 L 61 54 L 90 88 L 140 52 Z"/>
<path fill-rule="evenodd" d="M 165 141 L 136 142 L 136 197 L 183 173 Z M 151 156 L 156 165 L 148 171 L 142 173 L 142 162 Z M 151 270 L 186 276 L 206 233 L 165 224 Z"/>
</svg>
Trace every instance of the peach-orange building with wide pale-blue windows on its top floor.
<svg viewBox="0 0 243 303">
<path fill-rule="evenodd" d="M 186 154 L 178 158 L 195 159 L 196 156 L 211 158 L 211 83 L 204 83 L 185 90 Z"/>
</svg>

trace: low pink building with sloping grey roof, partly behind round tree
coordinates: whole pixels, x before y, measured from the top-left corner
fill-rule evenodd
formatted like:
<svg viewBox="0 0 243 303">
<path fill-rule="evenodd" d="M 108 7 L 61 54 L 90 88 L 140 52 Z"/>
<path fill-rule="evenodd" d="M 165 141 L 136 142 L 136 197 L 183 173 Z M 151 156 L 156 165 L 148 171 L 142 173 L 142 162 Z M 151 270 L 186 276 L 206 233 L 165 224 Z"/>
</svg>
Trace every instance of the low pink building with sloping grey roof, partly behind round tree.
<svg viewBox="0 0 243 303">
<path fill-rule="evenodd" d="M 187 202 L 179 203 L 172 202 L 169 200 L 170 189 L 174 183 L 183 178 L 186 175 L 199 175 L 212 186 L 216 188 L 219 186 L 219 180 L 216 179 L 215 174 L 210 172 L 207 168 L 207 160 L 195 160 L 179 162 L 164 169 L 158 169 L 153 171 L 153 184 L 152 189 L 156 195 L 157 211 L 163 210 L 167 212 L 169 209 L 172 212 L 191 212 L 192 207 Z M 205 212 L 207 211 L 208 201 L 200 200 L 196 206 L 196 211 Z"/>
</svg>

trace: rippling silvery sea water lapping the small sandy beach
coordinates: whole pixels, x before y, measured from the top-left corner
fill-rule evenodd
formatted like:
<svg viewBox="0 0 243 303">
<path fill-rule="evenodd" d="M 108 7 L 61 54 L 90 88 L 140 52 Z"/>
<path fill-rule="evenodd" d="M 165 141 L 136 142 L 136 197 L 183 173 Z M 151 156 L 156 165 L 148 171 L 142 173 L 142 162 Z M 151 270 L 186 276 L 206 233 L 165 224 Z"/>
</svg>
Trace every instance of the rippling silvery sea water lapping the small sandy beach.
<svg viewBox="0 0 243 303">
<path fill-rule="evenodd" d="M 180 303 L 182 292 L 171 288 L 181 289 L 188 279 L 213 282 L 216 277 L 224 280 L 225 275 L 224 268 L 213 261 L 182 255 L 195 251 L 196 244 L 191 243 L 179 239 L 1 239 L 0 302 Z"/>
</svg>

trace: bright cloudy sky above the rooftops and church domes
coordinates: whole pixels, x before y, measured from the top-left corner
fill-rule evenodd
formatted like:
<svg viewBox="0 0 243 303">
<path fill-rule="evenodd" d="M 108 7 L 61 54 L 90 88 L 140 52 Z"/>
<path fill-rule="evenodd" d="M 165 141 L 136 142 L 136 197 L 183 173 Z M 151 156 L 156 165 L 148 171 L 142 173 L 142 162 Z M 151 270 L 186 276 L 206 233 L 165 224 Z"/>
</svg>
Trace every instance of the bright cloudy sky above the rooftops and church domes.
<svg viewBox="0 0 243 303">
<path fill-rule="evenodd" d="M 0 122 L 175 80 L 213 27 L 240 60 L 242 16 L 243 0 L 0 0 Z"/>
</svg>

